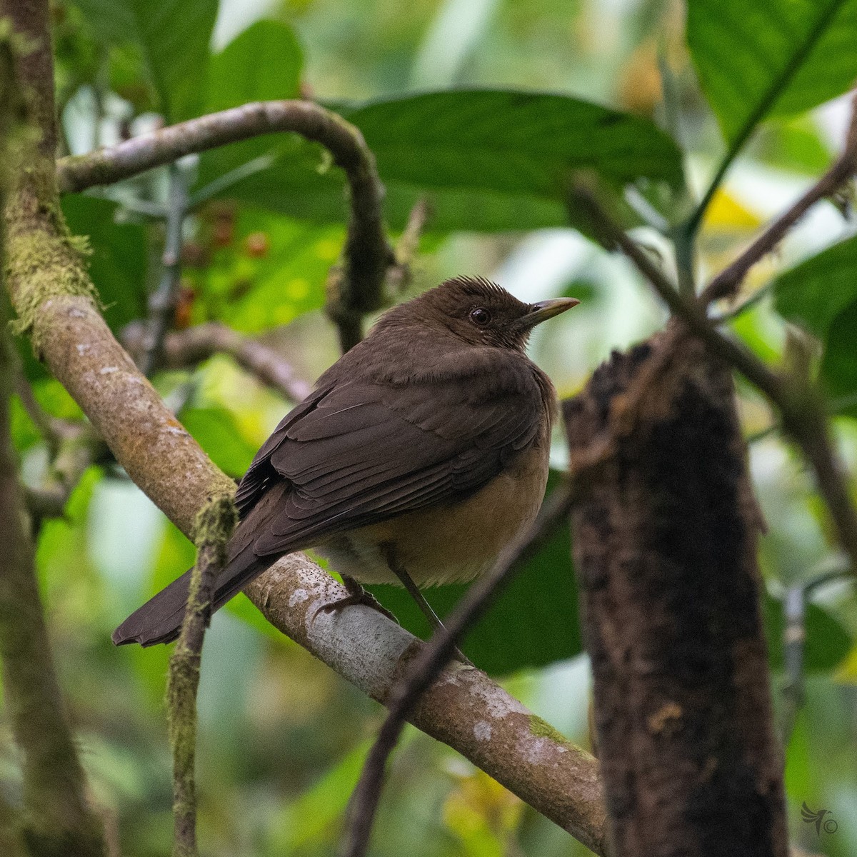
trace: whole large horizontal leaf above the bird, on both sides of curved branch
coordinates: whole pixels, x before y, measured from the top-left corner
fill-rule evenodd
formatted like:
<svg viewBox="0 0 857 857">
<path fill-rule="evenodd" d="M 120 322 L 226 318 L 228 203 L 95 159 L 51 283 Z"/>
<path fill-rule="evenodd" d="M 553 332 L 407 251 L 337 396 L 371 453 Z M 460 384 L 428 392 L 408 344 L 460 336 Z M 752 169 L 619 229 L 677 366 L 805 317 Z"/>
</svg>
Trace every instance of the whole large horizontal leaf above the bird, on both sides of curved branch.
<svg viewBox="0 0 857 857">
<path fill-rule="evenodd" d="M 502 90 L 423 93 L 341 108 L 363 132 L 387 187 L 387 219 L 404 225 L 421 195 L 437 230 L 565 225 L 566 184 L 577 170 L 602 181 L 682 181 L 681 157 L 649 120 L 561 95 Z M 267 136 L 206 153 L 200 183 L 262 155 L 273 165 L 226 189 L 296 217 L 345 219 L 344 178 L 321 147 Z"/>
</svg>

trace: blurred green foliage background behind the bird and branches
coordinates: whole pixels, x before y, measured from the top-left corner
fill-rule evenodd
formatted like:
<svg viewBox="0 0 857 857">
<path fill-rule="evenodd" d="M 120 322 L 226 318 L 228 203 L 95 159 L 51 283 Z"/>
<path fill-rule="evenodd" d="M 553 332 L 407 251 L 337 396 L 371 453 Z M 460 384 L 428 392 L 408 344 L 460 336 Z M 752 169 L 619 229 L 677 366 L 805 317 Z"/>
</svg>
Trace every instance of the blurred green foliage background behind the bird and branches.
<svg viewBox="0 0 857 857">
<path fill-rule="evenodd" d="M 803 81 L 804 90 L 815 87 L 812 97 L 801 101 L 806 93 L 799 87 L 792 103 L 774 111 L 712 201 L 700 242 L 704 273 L 732 258 L 759 225 L 830 165 L 840 147 L 847 105 L 827 99 L 842 93 L 857 73 L 854 59 L 842 59 L 839 52 L 853 55 L 857 37 L 854 3 L 844 5 L 850 17 L 840 21 L 840 41 L 828 45 L 824 81 Z M 474 273 L 524 299 L 581 298 L 580 308 L 539 329 L 531 347 L 560 396 L 575 393 L 612 349 L 644 339 L 666 316 L 626 261 L 566 227 L 560 197 L 546 190 L 558 157 L 551 141 L 577 135 L 584 165 L 609 173 L 610 158 L 632 135 L 638 146 L 649 147 L 648 165 L 632 172 L 649 177 L 641 195 L 651 201 L 656 186 L 675 195 L 681 183 L 674 169 L 678 154 L 669 137 L 656 131 L 659 126 L 683 148 L 686 183 L 698 193 L 722 158 L 724 135 L 734 140 L 740 134 L 742 105 L 753 95 L 750 73 L 741 91 L 718 81 L 724 63 L 742 62 L 723 47 L 725 35 L 707 66 L 704 51 L 694 47 L 694 67 L 685 4 L 674 0 L 65 0 L 55 3 L 54 20 L 66 153 L 251 100 L 303 96 L 334 106 L 363 129 L 375 149 L 393 232 L 403 228 L 423 193 L 434 207 L 407 294 L 447 276 Z M 710 45 L 705 23 L 697 22 L 695 38 Z M 763 35 L 772 27 L 764 15 L 749 15 L 744 23 Z M 509 118 L 517 115 L 517 96 L 409 99 L 450 87 L 560 93 L 630 116 L 616 120 L 619 130 L 610 136 L 603 129 L 611 123 L 601 121 L 606 114 L 600 108 L 568 99 L 526 102 L 531 122 L 524 128 Z M 367 99 L 382 100 L 367 106 Z M 463 134 L 453 130 L 462 115 L 472 119 Z M 457 153 L 464 150 L 470 160 L 459 163 Z M 518 162 L 522 152 L 533 158 Z M 467 166 L 474 158 L 481 165 L 476 172 Z M 285 354 L 299 377 L 312 381 L 338 356 L 335 331 L 321 311 L 327 271 L 345 235 L 338 171 L 318 147 L 290 137 L 260 138 L 184 159 L 179 169 L 195 209 L 184 231 L 177 327 L 224 321 L 260 336 Z M 623 169 L 615 168 L 617 183 L 627 178 Z M 167 189 L 163 168 L 63 201 L 72 231 L 90 237 L 93 279 L 117 332 L 146 315 L 147 294 L 158 282 Z M 745 290 L 763 290 L 761 299 L 732 322 L 734 333 L 769 360 L 805 335 L 795 333 L 790 321 L 813 335 L 815 362 L 838 414 L 837 438 L 852 468 L 853 233 L 848 195 L 838 209 L 818 207 L 775 256 L 752 271 Z M 640 236 L 656 252 L 668 252 L 654 231 Z M 788 271 L 805 259 L 810 261 L 804 267 Z M 21 356 L 42 407 L 57 417 L 81 419 L 26 343 Z M 292 404 L 228 357 L 160 372 L 154 381 L 233 476 L 243 472 Z M 739 393 L 768 524 L 761 548 L 765 614 L 787 749 L 792 835 L 816 853 L 855 854 L 853 585 L 846 579 L 812 590 L 806 659 L 800 674 L 787 673 L 784 597 L 841 568 L 842 559 L 800 458 L 782 441 L 758 395 L 740 381 Z M 24 479 L 39 484 L 48 451 L 20 403 L 14 428 Z M 559 437 L 554 446 L 554 464 L 561 468 L 565 452 Z M 88 470 L 64 517 L 45 521 L 39 532 L 40 581 L 70 714 L 94 797 L 128 857 L 168 854 L 171 848 L 163 704 L 168 650 L 117 650 L 110 633 L 193 557 L 183 536 L 109 465 Z M 450 587 L 429 597 L 442 611 L 459 594 Z M 381 596 L 406 624 L 425 632 L 396 593 Z M 464 649 L 537 714 L 587 744 L 588 670 L 565 533 L 518 578 Z M 797 680 L 804 701 L 795 714 L 789 703 L 794 693 L 788 697 L 785 690 Z M 330 669 L 267 628 L 239 596 L 218 614 L 206 640 L 198 753 L 204 853 L 333 853 L 341 813 L 381 714 Z M 0 789 L 13 797 L 18 769 L 8 724 L 0 721 L 0 728 Z M 803 823 L 804 802 L 812 810 L 829 809 L 836 833 L 817 836 L 812 824 Z M 589 852 L 455 753 L 411 732 L 395 757 L 373 853 Z"/>
</svg>

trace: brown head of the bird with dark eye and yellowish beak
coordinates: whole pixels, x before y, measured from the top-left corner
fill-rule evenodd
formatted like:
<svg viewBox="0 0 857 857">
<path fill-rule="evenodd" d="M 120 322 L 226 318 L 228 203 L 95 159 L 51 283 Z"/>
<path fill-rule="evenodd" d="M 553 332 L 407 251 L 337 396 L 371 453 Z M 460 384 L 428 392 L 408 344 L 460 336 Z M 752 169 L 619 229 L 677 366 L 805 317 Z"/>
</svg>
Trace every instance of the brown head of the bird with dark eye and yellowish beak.
<svg viewBox="0 0 857 857">
<path fill-rule="evenodd" d="M 456 277 L 397 309 L 469 345 L 524 351 L 533 327 L 578 303 L 574 297 L 524 303 L 490 280 Z M 393 314 L 388 315 L 393 321 Z"/>
</svg>

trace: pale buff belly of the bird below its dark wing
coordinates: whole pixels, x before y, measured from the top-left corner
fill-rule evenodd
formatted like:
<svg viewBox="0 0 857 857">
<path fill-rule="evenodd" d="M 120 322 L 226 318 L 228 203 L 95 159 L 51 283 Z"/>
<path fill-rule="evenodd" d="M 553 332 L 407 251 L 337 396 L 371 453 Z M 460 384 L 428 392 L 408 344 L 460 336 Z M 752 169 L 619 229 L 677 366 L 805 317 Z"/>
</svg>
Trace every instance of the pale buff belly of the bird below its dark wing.
<svg viewBox="0 0 857 857">
<path fill-rule="evenodd" d="M 548 479 L 547 444 L 524 452 L 512 467 L 458 505 L 391 518 L 317 546 L 340 574 L 361 583 L 398 584 L 380 546 L 392 545 L 417 586 L 476 578 L 536 517 Z"/>
</svg>

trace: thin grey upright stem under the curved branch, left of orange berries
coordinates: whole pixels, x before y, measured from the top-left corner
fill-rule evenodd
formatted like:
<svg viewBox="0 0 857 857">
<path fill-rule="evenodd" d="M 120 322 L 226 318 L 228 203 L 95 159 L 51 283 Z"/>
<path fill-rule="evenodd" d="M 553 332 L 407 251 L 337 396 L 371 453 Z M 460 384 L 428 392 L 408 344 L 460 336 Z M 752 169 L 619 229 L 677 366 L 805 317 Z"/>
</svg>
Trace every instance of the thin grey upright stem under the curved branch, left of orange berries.
<svg viewBox="0 0 857 857">
<path fill-rule="evenodd" d="M 166 238 L 158 288 L 149 296 L 149 330 L 141 370 L 152 375 L 158 366 L 164 338 L 176 311 L 179 287 L 182 285 L 182 246 L 184 219 L 188 213 L 188 176 L 181 165 L 170 165 L 170 195 L 167 204 Z"/>
</svg>

